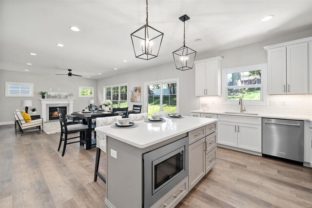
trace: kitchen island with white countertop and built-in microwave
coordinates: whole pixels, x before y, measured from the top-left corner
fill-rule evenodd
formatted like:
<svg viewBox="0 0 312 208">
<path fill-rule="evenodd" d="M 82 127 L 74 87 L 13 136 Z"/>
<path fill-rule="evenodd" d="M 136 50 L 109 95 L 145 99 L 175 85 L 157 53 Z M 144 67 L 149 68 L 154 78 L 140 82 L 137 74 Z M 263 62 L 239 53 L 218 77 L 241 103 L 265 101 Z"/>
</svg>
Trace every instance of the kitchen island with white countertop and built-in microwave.
<svg viewBox="0 0 312 208">
<path fill-rule="evenodd" d="M 215 164 L 216 121 L 185 116 L 128 129 L 97 127 L 107 135 L 105 206 L 174 207 Z"/>
</svg>

